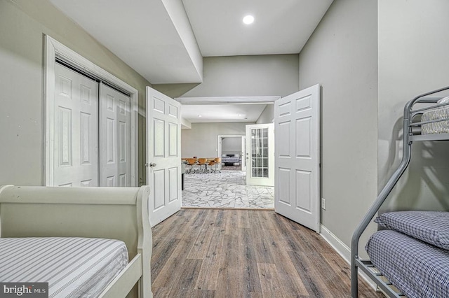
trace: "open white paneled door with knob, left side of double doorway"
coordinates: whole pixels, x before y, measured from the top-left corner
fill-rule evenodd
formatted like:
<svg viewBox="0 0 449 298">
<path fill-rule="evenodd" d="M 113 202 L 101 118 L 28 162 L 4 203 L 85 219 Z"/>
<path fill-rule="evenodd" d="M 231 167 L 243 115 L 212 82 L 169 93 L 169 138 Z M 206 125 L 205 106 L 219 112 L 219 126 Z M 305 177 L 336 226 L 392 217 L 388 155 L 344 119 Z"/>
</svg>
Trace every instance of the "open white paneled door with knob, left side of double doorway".
<svg viewBox="0 0 449 298">
<path fill-rule="evenodd" d="M 147 185 L 154 227 L 181 208 L 181 105 L 147 87 Z"/>
</svg>

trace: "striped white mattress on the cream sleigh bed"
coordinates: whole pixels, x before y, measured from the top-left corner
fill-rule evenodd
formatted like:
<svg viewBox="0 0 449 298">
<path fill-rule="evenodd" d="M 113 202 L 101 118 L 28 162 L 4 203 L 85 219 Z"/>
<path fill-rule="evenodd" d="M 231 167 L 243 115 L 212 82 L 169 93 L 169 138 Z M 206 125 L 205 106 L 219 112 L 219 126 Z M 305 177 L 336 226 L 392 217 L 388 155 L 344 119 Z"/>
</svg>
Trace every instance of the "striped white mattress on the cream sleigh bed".
<svg viewBox="0 0 449 298">
<path fill-rule="evenodd" d="M 0 238 L 0 282 L 48 283 L 48 297 L 97 297 L 128 264 L 125 243 L 93 238 Z"/>
</svg>

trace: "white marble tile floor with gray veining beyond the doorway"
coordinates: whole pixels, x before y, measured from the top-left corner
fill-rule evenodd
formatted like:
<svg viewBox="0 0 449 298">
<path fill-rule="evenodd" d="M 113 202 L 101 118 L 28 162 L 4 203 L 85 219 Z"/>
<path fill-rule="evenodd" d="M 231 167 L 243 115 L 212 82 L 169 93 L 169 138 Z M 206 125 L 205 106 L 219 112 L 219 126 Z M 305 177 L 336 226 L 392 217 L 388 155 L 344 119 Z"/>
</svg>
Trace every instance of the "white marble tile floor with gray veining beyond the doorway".
<svg viewBox="0 0 449 298">
<path fill-rule="evenodd" d="M 246 172 L 186 173 L 182 207 L 274 208 L 274 187 L 246 185 Z"/>
</svg>

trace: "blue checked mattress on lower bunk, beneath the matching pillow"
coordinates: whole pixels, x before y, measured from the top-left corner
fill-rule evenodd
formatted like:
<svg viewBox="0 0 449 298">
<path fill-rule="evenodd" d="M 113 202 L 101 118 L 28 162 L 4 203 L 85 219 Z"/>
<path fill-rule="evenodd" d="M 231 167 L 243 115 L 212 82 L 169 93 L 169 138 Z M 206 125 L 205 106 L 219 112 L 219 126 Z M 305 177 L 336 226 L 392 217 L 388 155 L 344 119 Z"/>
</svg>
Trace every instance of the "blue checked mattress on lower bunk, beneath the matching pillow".
<svg viewBox="0 0 449 298">
<path fill-rule="evenodd" d="M 394 230 L 370 237 L 371 262 L 409 298 L 449 297 L 449 251 Z"/>
</svg>

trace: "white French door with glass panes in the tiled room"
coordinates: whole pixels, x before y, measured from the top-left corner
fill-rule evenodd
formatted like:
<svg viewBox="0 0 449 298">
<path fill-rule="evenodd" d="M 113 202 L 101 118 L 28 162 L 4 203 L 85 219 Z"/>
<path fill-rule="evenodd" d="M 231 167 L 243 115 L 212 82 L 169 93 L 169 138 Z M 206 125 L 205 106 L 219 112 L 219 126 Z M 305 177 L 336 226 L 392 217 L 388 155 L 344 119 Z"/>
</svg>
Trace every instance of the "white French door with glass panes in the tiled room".
<svg viewBox="0 0 449 298">
<path fill-rule="evenodd" d="M 246 184 L 274 186 L 274 124 L 246 125 Z"/>
</svg>

